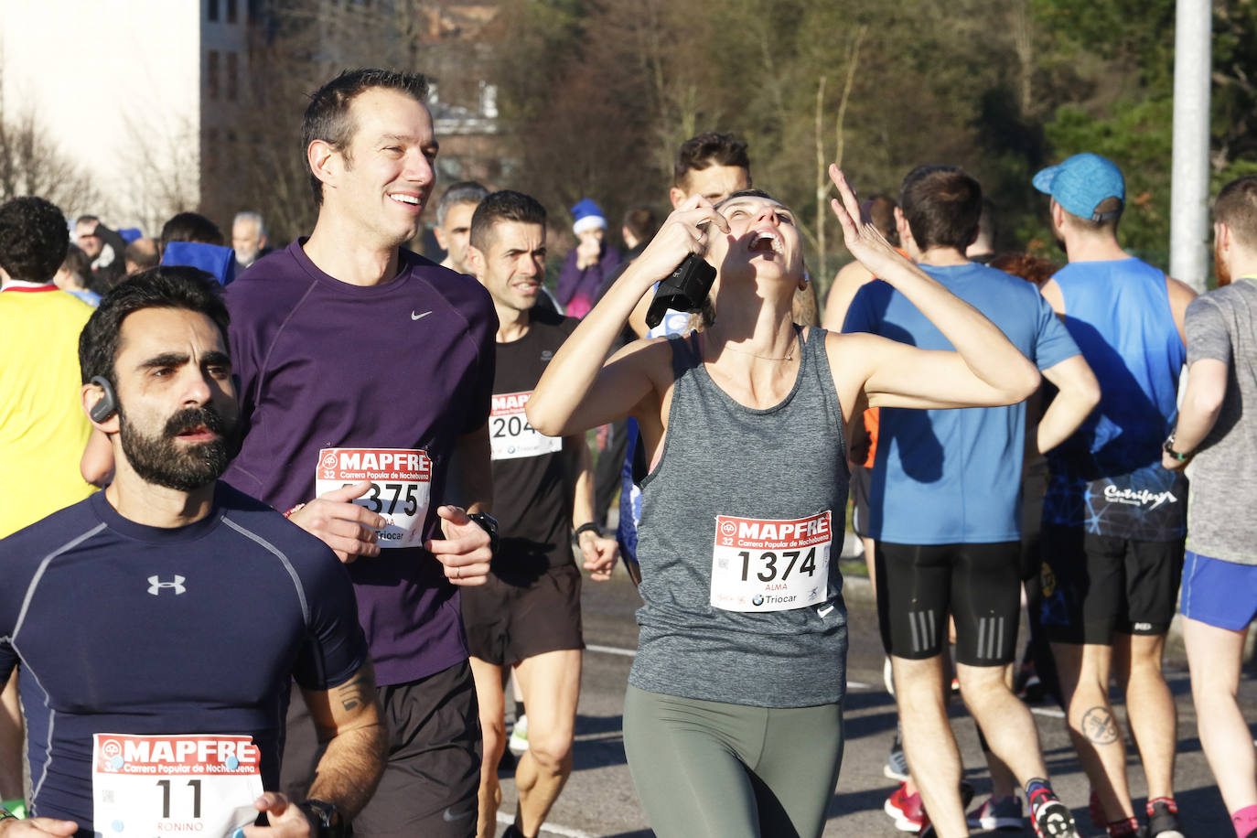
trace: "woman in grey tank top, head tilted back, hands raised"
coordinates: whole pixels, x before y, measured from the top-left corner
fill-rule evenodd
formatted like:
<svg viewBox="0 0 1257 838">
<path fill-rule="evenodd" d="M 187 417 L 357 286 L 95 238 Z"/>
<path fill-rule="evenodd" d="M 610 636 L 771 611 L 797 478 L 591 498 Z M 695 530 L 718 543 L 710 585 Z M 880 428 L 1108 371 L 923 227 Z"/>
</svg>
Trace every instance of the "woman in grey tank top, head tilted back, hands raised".
<svg viewBox="0 0 1257 838">
<path fill-rule="evenodd" d="M 641 427 L 645 604 L 625 750 L 662 838 L 821 834 L 842 759 L 847 632 L 835 548 L 842 428 L 856 406 L 1009 405 L 1038 386 L 999 329 L 861 224 L 841 172 L 830 176 L 852 255 L 955 352 L 796 325 L 791 304 L 807 280 L 791 211 L 758 191 L 715 207 L 693 196 L 528 403 L 549 436 L 625 416 Z M 716 268 L 713 325 L 639 340 L 603 363 L 642 297 L 689 254 Z"/>
</svg>

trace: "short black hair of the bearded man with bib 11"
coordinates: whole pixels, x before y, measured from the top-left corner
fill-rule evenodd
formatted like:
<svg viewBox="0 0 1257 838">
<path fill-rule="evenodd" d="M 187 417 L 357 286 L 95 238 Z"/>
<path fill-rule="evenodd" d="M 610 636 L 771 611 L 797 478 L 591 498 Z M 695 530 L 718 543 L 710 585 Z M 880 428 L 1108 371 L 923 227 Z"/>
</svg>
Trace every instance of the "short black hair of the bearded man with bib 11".
<svg viewBox="0 0 1257 838">
<path fill-rule="evenodd" d="M 127 315 L 150 308 L 204 314 L 219 327 L 222 343 L 228 343 L 231 318 L 222 302 L 222 286 L 214 276 L 186 265 L 152 268 L 106 294 L 79 333 L 79 372 L 84 384 L 96 376 L 103 376 L 111 384 L 117 383 L 113 364 L 118 357 L 122 322 Z"/>
</svg>

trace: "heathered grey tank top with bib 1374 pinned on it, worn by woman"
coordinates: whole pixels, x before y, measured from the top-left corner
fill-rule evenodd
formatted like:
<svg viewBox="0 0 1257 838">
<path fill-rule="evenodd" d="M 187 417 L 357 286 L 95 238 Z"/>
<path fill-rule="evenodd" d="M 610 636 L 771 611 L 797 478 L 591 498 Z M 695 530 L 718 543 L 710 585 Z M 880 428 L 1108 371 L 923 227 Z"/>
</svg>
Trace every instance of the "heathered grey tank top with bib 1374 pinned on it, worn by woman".
<svg viewBox="0 0 1257 838">
<path fill-rule="evenodd" d="M 848 471 L 825 335 L 808 332 L 794 388 L 768 410 L 711 381 L 696 335 L 669 338 L 667 436 L 642 482 L 635 687 L 759 707 L 842 699 Z"/>
</svg>

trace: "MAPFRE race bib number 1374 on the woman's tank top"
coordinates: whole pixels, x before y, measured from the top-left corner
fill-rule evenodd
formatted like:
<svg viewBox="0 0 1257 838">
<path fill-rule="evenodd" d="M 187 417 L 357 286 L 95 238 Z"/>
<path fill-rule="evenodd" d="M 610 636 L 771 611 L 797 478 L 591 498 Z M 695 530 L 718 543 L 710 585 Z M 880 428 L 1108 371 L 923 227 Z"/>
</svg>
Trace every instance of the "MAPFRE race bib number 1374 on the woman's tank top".
<svg viewBox="0 0 1257 838">
<path fill-rule="evenodd" d="M 711 606 L 789 611 L 820 603 L 828 587 L 830 510 L 792 520 L 716 515 Z"/>
</svg>

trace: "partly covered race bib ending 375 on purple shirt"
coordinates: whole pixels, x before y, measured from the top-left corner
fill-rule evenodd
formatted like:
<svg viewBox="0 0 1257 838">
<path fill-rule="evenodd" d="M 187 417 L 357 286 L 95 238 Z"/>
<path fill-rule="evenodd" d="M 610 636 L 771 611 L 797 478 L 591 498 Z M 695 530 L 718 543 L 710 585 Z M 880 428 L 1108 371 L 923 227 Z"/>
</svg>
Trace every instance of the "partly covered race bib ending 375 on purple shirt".
<svg viewBox="0 0 1257 838">
<path fill-rule="evenodd" d="M 323 449 L 318 452 L 314 494 L 371 481 L 353 503 L 383 515 L 381 548 L 419 547 L 432 496 L 432 461 L 421 449 Z"/>
</svg>

